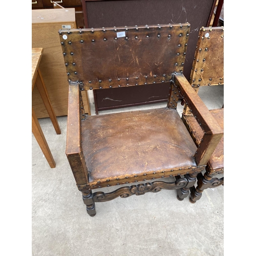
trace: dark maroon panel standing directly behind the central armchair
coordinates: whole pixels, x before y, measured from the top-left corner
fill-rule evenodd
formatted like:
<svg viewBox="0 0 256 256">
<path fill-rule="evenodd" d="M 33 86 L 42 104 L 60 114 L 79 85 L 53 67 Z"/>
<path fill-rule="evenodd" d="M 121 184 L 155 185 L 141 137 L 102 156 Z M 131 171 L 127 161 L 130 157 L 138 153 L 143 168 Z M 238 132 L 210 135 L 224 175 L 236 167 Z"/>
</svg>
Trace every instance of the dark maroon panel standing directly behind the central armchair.
<svg viewBox="0 0 256 256">
<path fill-rule="evenodd" d="M 189 79 L 198 31 L 209 26 L 216 0 L 82 0 L 86 28 L 135 26 L 168 23 L 191 24 L 184 75 Z M 120 90 L 94 90 L 96 113 L 155 102 L 167 102 L 168 83 L 156 83 Z"/>
</svg>

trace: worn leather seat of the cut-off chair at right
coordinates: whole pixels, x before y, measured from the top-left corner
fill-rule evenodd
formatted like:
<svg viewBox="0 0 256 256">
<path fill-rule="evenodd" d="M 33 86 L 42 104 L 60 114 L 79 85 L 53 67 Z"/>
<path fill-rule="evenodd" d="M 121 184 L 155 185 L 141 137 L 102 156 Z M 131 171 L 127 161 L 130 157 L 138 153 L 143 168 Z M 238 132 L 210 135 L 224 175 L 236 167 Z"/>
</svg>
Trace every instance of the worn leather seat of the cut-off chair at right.
<svg viewBox="0 0 256 256">
<path fill-rule="evenodd" d="M 224 128 L 224 109 L 210 110 L 210 113 L 215 117 L 220 126 Z M 186 122 L 189 124 L 189 129 L 193 131 L 196 143 L 199 144 L 204 134 L 200 125 L 194 116 L 184 116 L 183 118 L 186 119 Z M 209 165 L 212 172 L 224 168 L 224 136 L 212 154 Z"/>
</svg>

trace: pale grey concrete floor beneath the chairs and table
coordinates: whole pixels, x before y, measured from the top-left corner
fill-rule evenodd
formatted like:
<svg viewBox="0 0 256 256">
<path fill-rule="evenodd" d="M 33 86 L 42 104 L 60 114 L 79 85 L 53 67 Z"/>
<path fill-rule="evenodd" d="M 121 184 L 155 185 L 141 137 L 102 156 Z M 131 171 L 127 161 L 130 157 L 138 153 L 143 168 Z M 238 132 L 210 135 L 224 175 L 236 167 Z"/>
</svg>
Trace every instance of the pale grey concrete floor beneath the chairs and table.
<svg viewBox="0 0 256 256">
<path fill-rule="evenodd" d="M 200 88 L 199 95 L 209 109 L 223 104 L 221 86 Z M 60 135 L 49 118 L 39 119 L 55 168 L 50 168 L 32 134 L 32 255 L 224 255 L 223 186 L 205 190 L 196 204 L 188 198 L 178 201 L 175 190 L 117 198 L 96 203 L 97 214 L 90 217 L 65 155 L 67 117 L 57 119 Z"/>
</svg>

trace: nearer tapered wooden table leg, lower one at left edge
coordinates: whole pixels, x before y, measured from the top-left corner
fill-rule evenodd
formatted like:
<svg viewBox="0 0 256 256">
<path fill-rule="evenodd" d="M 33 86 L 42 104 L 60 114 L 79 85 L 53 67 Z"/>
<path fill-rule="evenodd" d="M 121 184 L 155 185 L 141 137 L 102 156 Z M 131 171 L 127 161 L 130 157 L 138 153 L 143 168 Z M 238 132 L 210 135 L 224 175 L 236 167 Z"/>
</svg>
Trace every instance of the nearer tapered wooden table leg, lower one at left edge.
<svg viewBox="0 0 256 256">
<path fill-rule="evenodd" d="M 37 143 L 39 144 L 42 153 L 44 153 L 50 167 L 55 168 L 55 166 L 56 166 L 55 161 L 53 159 L 53 156 L 52 156 L 50 148 L 47 144 L 45 135 L 42 132 L 41 126 L 37 120 L 37 117 L 35 115 L 33 108 L 32 108 L 32 133 L 34 134 L 34 136 L 37 140 Z"/>
</svg>

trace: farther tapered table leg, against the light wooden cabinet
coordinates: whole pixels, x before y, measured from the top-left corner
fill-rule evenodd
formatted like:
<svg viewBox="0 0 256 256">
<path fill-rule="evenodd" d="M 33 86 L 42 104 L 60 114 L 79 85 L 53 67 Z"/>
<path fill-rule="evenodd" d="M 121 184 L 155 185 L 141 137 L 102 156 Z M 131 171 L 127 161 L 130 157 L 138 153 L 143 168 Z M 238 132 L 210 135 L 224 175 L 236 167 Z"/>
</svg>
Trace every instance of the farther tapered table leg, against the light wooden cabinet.
<svg viewBox="0 0 256 256">
<path fill-rule="evenodd" d="M 49 95 L 47 93 L 47 90 L 46 90 L 46 86 L 45 86 L 45 83 L 44 83 L 44 80 L 42 79 L 42 75 L 41 75 L 41 72 L 38 68 L 37 70 L 37 77 L 36 77 L 36 87 L 41 95 L 41 98 L 42 98 L 42 101 L 44 102 L 45 106 L 46 106 L 46 110 L 52 120 L 52 124 L 54 126 L 54 129 L 56 131 L 57 134 L 60 134 L 61 131 L 60 131 L 60 128 L 59 128 L 59 124 L 58 124 L 58 121 L 57 121 L 57 118 L 56 118 L 56 115 L 54 113 L 54 110 L 53 110 L 53 107 L 52 107 L 52 104 L 51 104 L 51 101 L 50 101 L 50 98 L 49 98 Z"/>
</svg>

